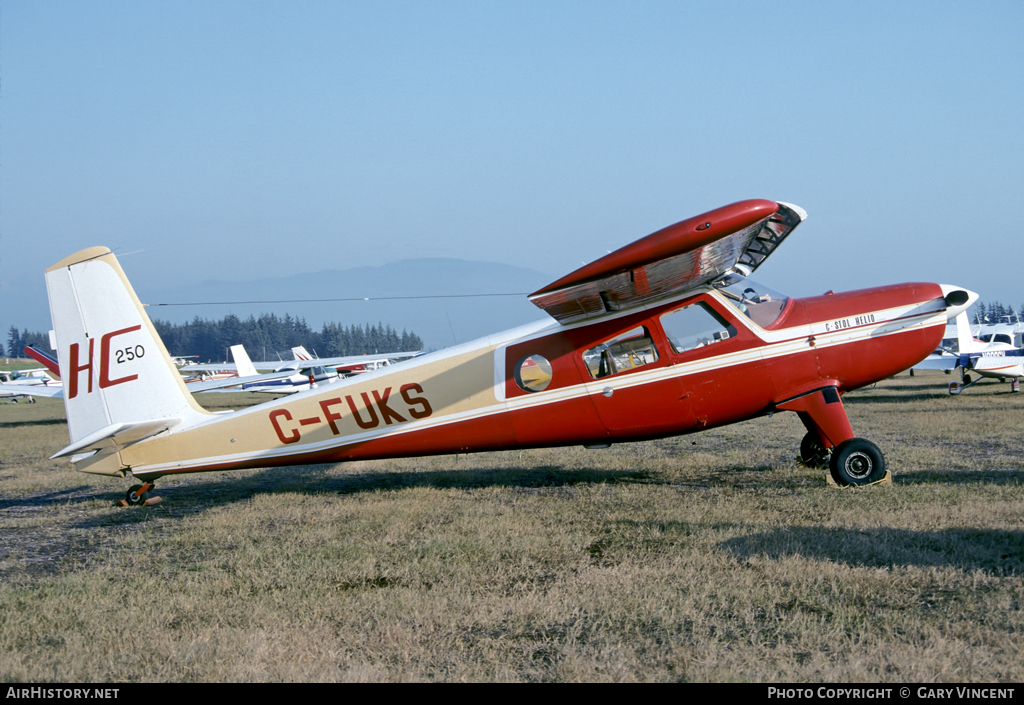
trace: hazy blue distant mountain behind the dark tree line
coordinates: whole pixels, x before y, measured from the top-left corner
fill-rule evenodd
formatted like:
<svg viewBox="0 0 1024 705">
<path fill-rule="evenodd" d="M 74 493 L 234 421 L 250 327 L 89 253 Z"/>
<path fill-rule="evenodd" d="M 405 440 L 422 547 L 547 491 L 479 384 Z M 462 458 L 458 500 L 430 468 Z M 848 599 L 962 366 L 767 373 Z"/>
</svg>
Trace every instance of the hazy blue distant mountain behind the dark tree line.
<svg viewBox="0 0 1024 705">
<path fill-rule="evenodd" d="M 154 319 L 182 323 L 197 316 L 220 319 L 260 313 L 291 314 L 319 329 L 325 321 L 344 325 L 384 323 L 399 333 L 417 333 L 427 349 L 496 333 L 547 316 L 525 294 L 549 284 L 555 277 L 498 262 L 464 259 L 404 259 L 383 266 L 324 269 L 250 282 L 207 281 L 198 285 L 151 289 L 133 282 L 139 298 L 150 304 Z M 509 294 L 515 296 L 485 296 Z M 427 298 L 458 295 L 460 298 Z M 377 297 L 419 297 L 374 300 Z M 323 301 L 369 297 L 371 300 Z M 158 305 L 210 301 L 270 301 L 321 299 L 319 302 L 231 303 L 218 305 Z M 297 341 L 299 344 L 301 341 Z M 251 350 L 261 355 L 260 350 Z"/>
</svg>

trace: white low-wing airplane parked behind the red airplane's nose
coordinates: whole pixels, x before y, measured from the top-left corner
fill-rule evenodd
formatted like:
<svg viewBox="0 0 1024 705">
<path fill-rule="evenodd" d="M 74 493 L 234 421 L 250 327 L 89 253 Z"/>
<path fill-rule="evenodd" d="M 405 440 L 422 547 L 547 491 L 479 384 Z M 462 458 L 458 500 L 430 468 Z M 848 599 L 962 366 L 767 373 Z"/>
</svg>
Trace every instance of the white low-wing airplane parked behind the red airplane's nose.
<svg viewBox="0 0 1024 705">
<path fill-rule="evenodd" d="M 1011 391 L 1020 391 L 1020 378 L 1024 377 L 1024 348 L 1005 342 L 1001 334 L 990 334 L 989 340 L 978 340 L 971 332 L 967 312 L 955 318 L 956 349 L 939 349 L 914 365 L 914 369 L 961 370 L 961 382 L 949 383 L 949 393 L 958 395 L 985 377 L 1010 381 Z M 1010 338 L 1012 340 L 1013 338 Z M 946 342 L 946 339 L 943 339 Z M 971 373 L 978 375 L 977 379 Z"/>
</svg>

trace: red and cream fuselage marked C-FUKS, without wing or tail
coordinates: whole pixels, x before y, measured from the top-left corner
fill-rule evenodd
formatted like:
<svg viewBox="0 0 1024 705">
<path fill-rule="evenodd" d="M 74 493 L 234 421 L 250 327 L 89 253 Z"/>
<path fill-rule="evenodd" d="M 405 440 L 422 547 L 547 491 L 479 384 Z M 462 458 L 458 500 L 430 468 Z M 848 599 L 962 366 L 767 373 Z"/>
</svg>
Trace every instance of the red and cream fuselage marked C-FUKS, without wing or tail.
<svg viewBox="0 0 1024 705">
<path fill-rule="evenodd" d="M 522 326 L 79 467 L 142 479 L 689 433 L 892 376 L 935 349 L 946 325 L 937 284 L 775 301 L 770 323 L 749 305 L 758 302 L 726 293 L 706 287 L 598 321 Z"/>
</svg>

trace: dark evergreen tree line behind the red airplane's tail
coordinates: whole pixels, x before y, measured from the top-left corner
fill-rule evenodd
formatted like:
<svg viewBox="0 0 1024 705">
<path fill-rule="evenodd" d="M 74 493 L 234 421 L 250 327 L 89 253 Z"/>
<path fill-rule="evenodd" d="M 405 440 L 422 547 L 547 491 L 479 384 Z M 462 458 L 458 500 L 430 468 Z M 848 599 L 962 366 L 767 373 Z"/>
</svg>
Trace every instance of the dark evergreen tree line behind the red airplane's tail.
<svg viewBox="0 0 1024 705">
<path fill-rule="evenodd" d="M 259 318 L 250 316 L 248 319 L 229 314 L 220 321 L 197 316 L 188 323 L 154 321 L 153 325 L 172 356 L 196 356 L 203 362 L 227 362 L 228 348 L 240 343 L 246 346 L 253 360 L 274 360 L 279 352 L 282 358 L 290 360 L 291 348 L 298 345 L 321 358 L 423 349 L 423 340 L 419 335 L 406 330 L 398 333 L 383 323 L 344 326 L 331 322 L 325 323 L 319 331 L 314 331 L 305 319 L 288 314 L 283 318 L 261 314 Z M 19 332 L 11 326 L 7 333 L 8 356 L 25 357 L 23 350 L 27 345 L 48 350 L 49 336 L 28 330 Z M 0 344 L 0 356 L 3 354 L 3 345 Z"/>
</svg>

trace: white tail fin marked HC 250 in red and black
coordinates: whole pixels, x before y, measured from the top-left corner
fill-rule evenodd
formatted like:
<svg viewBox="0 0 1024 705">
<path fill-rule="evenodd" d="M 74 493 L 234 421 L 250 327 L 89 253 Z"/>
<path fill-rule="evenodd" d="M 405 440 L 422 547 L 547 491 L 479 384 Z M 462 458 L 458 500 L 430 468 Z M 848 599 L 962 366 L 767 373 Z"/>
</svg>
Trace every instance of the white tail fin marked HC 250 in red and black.
<svg viewBox="0 0 1024 705">
<path fill-rule="evenodd" d="M 181 375 L 117 258 L 92 247 L 46 271 L 71 445 L 53 457 L 95 456 L 210 417 Z M 109 458 L 113 468 L 116 458 Z M 93 471 L 93 470 L 90 470 Z"/>
</svg>

